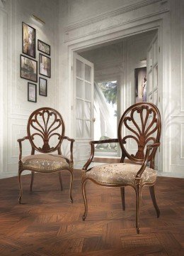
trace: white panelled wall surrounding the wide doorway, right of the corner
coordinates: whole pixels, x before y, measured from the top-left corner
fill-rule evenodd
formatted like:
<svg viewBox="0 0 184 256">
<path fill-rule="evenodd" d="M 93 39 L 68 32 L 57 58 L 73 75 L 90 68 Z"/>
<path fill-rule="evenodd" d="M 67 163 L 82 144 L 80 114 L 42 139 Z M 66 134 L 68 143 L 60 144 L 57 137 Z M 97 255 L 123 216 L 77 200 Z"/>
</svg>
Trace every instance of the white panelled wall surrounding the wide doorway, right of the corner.
<svg viewBox="0 0 184 256">
<path fill-rule="evenodd" d="M 111 2 L 111 3 L 110 3 Z M 105 4 L 104 4 L 105 3 Z M 74 50 L 108 43 L 124 36 L 158 29 L 161 51 L 161 114 L 163 171 L 182 173 L 183 157 L 183 0 L 176 1 L 59 1 L 59 70 L 67 86 L 63 106 L 72 115 L 72 53 Z M 100 11 L 103 13 L 100 14 Z M 62 21 L 62 22 L 61 22 Z M 63 26 L 62 26 L 63 25 Z M 124 50 L 126 51 L 127 46 Z M 122 73 L 127 72 L 127 67 Z M 124 81 L 125 84 L 127 81 Z M 173 92 L 174 85 L 174 92 Z M 66 88 L 66 87 L 65 87 Z M 132 89 L 131 89 L 132 90 Z M 122 109 L 131 104 L 131 96 Z M 72 135 L 72 119 L 69 120 Z M 177 138 L 177 139 L 176 139 Z M 180 139 L 178 139 L 180 138 Z M 183 175 L 183 174 L 181 174 Z"/>
</svg>

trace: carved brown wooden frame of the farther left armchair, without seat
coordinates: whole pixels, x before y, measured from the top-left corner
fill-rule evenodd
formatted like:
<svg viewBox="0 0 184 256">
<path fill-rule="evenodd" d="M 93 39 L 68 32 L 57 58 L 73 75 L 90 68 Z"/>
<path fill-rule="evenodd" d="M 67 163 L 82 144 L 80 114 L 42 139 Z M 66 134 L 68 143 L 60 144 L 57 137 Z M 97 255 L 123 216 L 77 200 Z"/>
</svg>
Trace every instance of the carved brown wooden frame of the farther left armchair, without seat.
<svg viewBox="0 0 184 256">
<path fill-rule="evenodd" d="M 38 117 L 42 117 L 42 121 L 44 123 L 44 127 L 42 127 L 42 125 L 40 124 Z M 54 120 L 52 121 L 51 124 L 49 124 L 50 122 L 50 117 L 54 117 Z M 37 125 L 37 126 L 35 126 Z M 57 129 L 59 129 L 59 127 L 61 127 L 62 132 L 61 134 L 55 132 Z M 33 128 L 35 129 L 35 133 L 31 133 L 30 129 Z M 72 189 L 72 183 L 73 183 L 73 167 L 74 167 L 74 161 L 73 161 L 73 144 L 74 144 L 74 139 L 70 139 L 67 136 L 64 136 L 64 132 L 65 132 L 65 125 L 64 125 L 64 120 L 62 118 L 62 115 L 59 114 L 59 112 L 57 112 L 57 110 L 54 110 L 50 107 L 41 107 L 38 110 L 35 110 L 32 114 L 30 114 L 30 117 L 28 119 L 28 124 L 27 124 L 27 134 L 28 136 L 23 137 L 22 139 L 18 139 L 18 144 L 19 144 L 19 161 L 18 161 L 18 182 L 19 182 L 19 191 L 20 191 L 20 195 L 18 198 L 19 203 L 21 203 L 21 198 L 22 198 L 22 193 L 23 193 L 23 188 L 22 188 L 22 183 L 21 183 L 21 174 L 23 173 L 23 171 L 25 170 L 29 170 L 31 171 L 31 182 L 30 182 L 30 191 L 33 190 L 33 181 L 34 181 L 34 176 L 35 176 L 35 172 L 39 172 L 35 171 L 35 169 L 32 168 L 28 168 L 26 166 L 23 166 L 23 161 L 22 161 L 22 142 L 25 140 L 29 140 L 30 144 L 31 144 L 31 155 L 35 154 L 35 151 L 38 151 L 40 153 L 52 153 L 53 151 L 57 151 L 59 156 L 62 156 L 62 150 L 61 150 L 61 146 L 62 146 L 62 142 L 63 140 L 67 140 L 70 143 L 70 158 L 68 159 L 66 156 L 62 156 L 63 159 L 65 159 L 67 161 L 67 164 L 69 164 L 68 168 L 64 167 L 64 169 L 68 170 L 71 174 L 71 181 L 70 181 L 70 187 L 69 187 L 69 197 L 71 200 L 71 203 L 73 203 L 73 199 L 71 196 L 71 189 Z M 43 146 L 42 148 L 36 146 L 36 144 L 34 143 L 34 137 L 35 136 L 39 136 L 42 138 L 43 141 Z M 57 136 L 59 142 L 57 143 L 56 146 L 50 147 L 49 141 L 50 138 L 52 136 Z M 58 172 L 59 174 L 59 182 L 60 182 L 60 186 L 61 186 L 61 191 L 63 190 L 63 186 L 62 186 L 62 176 L 61 176 L 61 171 L 63 169 L 57 169 L 55 171 L 47 171 L 47 173 L 53 173 L 53 172 Z"/>
</svg>

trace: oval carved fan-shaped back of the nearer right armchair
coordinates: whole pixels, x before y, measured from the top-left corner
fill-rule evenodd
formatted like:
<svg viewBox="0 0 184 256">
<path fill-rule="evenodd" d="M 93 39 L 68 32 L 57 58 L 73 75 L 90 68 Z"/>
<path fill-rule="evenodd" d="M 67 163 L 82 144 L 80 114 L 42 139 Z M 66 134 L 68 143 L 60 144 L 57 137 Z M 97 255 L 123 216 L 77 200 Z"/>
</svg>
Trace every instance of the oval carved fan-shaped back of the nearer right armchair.
<svg viewBox="0 0 184 256">
<path fill-rule="evenodd" d="M 122 149 L 122 161 L 125 157 L 134 163 L 142 163 L 145 157 L 146 146 L 160 142 L 161 117 L 158 108 L 149 103 L 137 103 L 129 107 L 120 119 L 118 139 Z M 130 154 L 131 146 L 136 149 Z M 154 168 L 156 149 L 151 151 L 148 162 Z"/>
</svg>

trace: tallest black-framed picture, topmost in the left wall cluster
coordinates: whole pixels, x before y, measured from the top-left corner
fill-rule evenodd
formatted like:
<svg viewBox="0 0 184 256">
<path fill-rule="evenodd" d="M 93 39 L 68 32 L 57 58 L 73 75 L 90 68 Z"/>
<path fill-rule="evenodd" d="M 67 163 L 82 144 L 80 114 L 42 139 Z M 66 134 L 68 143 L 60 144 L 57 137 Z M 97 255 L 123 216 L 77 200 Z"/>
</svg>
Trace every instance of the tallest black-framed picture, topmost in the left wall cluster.
<svg viewBox="0 0 184 256">
<path fill-rule="evenodd" d="M 36 30 L 23 22 L 23 53 L 36 57 Z"/>
</svg>

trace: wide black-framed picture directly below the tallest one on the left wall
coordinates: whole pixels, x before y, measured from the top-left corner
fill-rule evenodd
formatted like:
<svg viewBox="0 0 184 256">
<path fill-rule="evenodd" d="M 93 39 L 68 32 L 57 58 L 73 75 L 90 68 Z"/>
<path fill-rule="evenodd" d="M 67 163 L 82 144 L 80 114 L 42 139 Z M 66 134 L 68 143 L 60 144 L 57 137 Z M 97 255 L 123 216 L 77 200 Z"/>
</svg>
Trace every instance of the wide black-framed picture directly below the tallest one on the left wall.
<svg viewBox="0 0 184 256">
<path fill-rule="evenodd" d="M 21 78 L 38 81 L 38 62 L 21 55 Z"/>
</svg>

